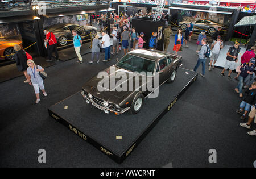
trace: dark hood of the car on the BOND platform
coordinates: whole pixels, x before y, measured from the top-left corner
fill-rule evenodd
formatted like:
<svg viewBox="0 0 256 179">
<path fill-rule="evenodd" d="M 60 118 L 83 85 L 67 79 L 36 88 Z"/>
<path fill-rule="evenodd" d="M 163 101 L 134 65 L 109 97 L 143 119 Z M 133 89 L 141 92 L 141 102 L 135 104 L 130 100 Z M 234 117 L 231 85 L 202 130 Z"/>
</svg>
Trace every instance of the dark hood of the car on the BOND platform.
<svg viewBox="0 0 256 179">
<path fill-rule="evenodd" d="M 110 68 L 113 69 L 110 70 Z M 122 72 L 122 74 L 125 74 L 127 78 L 124 78 L 122 80 L 120 80 L 119 78 L 114 78 L 115 75 L 118 74 L 118 72 Z M 140 86 L 146 84 L 146 82 L 144 82 L 144 84 L 141 84 L 142 76 L 140 74 L 130 72 L 125 69 L 117 68 L 114 65 L 105 69 L 103 73 L 105 73 L 105 78 L 101 76 L 99 76 L 98 78 L 97 76 L 95 76 L 88 82 L 86 82 L 86 84 L 82 86 L 82 89 L 92 94 L 94 97 L 100 98 L 110 103 L 119 104 L 127 97 L 129 97 L 131 94 L 133 94 L 135 87 L 133 88 L 132 91 L 129 91 L 129 84 L 133 84 L 133 86 L 135 86 L 134 84 L 138 82 L 138 80 L 140 82 Z M 113 79 L 110 80 L 111 78 Z M 114 85 L 111 85 L 111 81 Z M 109 85 L 105 87 L 103 82 Z M 116 86 L 123 86 L 125 84 L 127 84 L 126 91 L 117 91 L 117 88 L 115 88 Z"/>
</svg>

